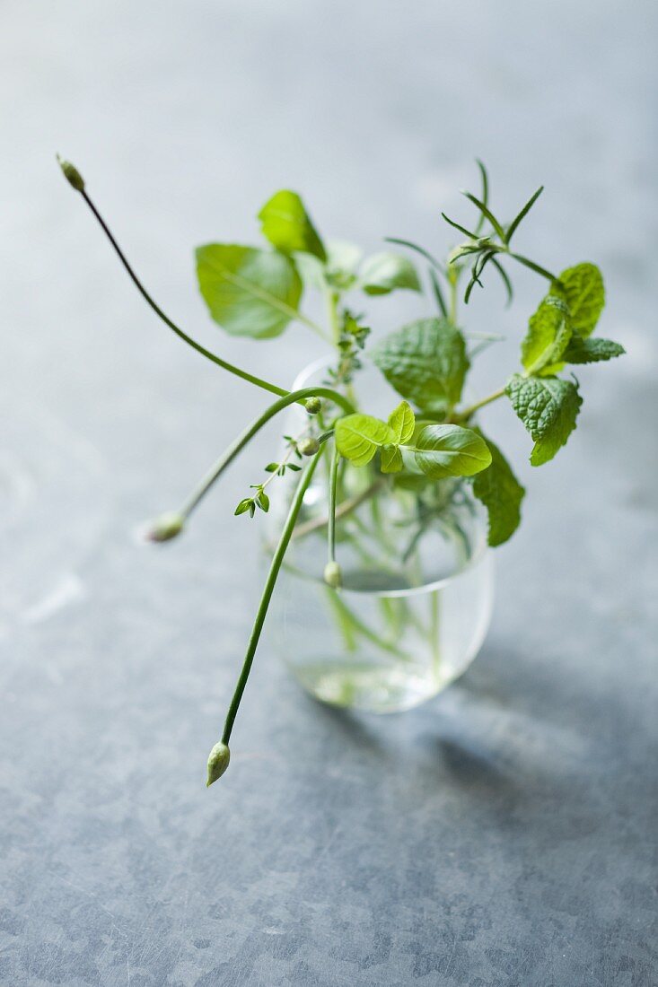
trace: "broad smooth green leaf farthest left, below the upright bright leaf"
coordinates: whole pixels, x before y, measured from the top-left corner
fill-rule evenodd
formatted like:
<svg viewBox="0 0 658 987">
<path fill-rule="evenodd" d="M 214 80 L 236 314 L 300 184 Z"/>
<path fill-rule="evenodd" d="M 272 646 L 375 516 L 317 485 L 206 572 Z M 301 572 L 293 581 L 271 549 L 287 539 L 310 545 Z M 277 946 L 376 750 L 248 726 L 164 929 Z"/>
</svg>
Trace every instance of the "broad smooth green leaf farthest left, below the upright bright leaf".
<svg viewBox="0 0 658 987">
<path fill-rule="evenodd" d="M 208 244 L 198 247 L 197 276 L 211 317 L 233 336 L 279 336 L 296 315 L 301 281 L 274 251 Z"/>
</svg>

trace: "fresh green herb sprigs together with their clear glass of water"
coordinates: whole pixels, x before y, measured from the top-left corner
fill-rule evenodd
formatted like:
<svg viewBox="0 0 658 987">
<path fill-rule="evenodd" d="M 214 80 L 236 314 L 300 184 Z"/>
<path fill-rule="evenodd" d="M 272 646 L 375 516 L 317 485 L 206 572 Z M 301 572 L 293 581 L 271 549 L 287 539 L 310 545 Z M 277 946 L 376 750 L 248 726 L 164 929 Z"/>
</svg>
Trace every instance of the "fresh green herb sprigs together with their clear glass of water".
<svg viewBox="0 0 658 987">
<path fill-rule="evenodd" d="M 479 197 L 465 192 L 475 210 L 472 225 L 444 214 L 459 234 L 445 261 L 399 239 L 390 241 L 395 251 L 363 260 L 353 245 L 321 238 L 299 196 L 279 191 L 258 214 L 267 245 L 200 247 L 197 273 L 209 314 L 227 333 L 271 339 L 296 321 L 326 340 L 326 360 L 288 391 L 227 363 L 172 322 L 128 264 L 79 172 L 60 165 L 156 315 L 207 359 L 276 398 L 181 509 L 155 522 L 151 540 L 178 535 L 250 440 L 286 412 L 281 452 L 235 508 L 248 517 L 268 513 L 272 497 L 271 516 L 280 523 L 244 664 L 208 758 L 207 784 L 228 766 L 231 730 L 280 577 L 276 628 L 288 664 L 311 693 L 379 711 L 435 695 L 482 643 L 491 601 L 487 545 L 514 533 L 525 494 L 476 413 L 508 400 L 533 440 L 533 466 L 553 458 L 582 405 L 570 366 L 623 352 L 592 335 L 604 307 L 599 269 L 579 264 L 554 274 L 518 253 L 513 241 L 541 189 L 502 223 L 479 162 Z M 370 342 L 365 300 L 423 291 L 411 257 L 427 273 L 428 315 L 383 339 L 372 334 Z M 472 360 L 497 338 L 464 332 L 459 303 L 468 303 L 485 272 L 501 279 L 511 302 L 514 265 L 529 267 L 544 285 L 521 343 L 521 365 L 491 394 L 464 403 Z M 306 291 L 321 293 L 326 325 L 302 312 Z M 379 406 L 383 414 L 371 414 Z"/>
</svg>

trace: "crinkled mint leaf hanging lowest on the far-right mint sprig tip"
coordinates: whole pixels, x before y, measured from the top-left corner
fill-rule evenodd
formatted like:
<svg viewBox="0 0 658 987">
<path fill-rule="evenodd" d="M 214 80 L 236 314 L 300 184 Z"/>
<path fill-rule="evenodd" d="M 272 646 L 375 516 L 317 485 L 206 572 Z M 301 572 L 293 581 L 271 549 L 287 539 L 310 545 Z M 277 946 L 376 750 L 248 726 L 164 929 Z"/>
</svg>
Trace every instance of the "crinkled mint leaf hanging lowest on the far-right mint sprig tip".
<svg viewBox="0 0 658 987">
<path fill-rule="evenodd" d="M 512 407 L 532 437 L 533 466 L 552 459 L 576 427 L 583 401 L 570 380 L 559 377 L 522 377 L 514 374 L 507 383 Z"/>
</svg>

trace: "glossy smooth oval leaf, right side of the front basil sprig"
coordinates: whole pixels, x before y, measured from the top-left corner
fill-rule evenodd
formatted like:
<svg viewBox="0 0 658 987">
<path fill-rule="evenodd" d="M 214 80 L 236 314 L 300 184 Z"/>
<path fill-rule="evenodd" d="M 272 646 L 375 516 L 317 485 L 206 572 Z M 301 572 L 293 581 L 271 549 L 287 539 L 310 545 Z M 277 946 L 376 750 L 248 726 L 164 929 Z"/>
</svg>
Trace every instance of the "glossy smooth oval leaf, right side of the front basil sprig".
<svg viewBox="0 0 658 987">
<path fill-rule="evenodd" d="M 472 477 L 491 463 L 484 439 L 460 425 L 427 425 L 418 436 L 414 456 L 432 480 Z"/>
</svg>

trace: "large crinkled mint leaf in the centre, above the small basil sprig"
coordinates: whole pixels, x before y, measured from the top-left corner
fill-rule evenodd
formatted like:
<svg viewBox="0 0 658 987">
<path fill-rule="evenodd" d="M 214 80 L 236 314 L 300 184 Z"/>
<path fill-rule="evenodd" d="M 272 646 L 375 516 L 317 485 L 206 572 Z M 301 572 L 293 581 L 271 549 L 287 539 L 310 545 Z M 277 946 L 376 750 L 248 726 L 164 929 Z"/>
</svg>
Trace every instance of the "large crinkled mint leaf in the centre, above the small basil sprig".
<svg viewBox="0 0 658 987">
<path fill-rule="evenodd" d="M 466 344 L 446 319 L 419 319 L 391 333 L 370 351 L 398 394 L 426 411 L 456 405 L 469 367 Z"/>
</svg>

